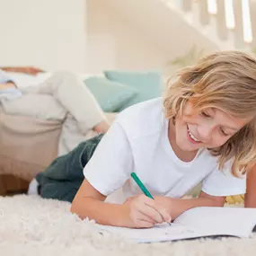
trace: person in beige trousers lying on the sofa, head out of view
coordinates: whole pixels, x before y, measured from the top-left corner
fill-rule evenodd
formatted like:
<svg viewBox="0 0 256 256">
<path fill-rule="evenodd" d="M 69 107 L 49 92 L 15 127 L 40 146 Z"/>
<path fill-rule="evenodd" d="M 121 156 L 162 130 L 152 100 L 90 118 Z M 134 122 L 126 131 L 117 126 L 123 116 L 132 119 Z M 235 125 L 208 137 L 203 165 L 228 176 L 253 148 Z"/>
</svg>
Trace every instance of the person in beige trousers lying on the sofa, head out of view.
<svg viewBox="0 0 256 256">
<path fill-rule="evenodd" d="M 0 110 L 7 114 L 57 119 L 63 122 L 58 155 L 70 152 L 88 137 L 105 133 L 109 128 L 102 108 L 93 94 L 71 72 L 56 72 L 36 86 L 19 87 L 11 73 L 0 69 Z M 8 71 L 17 72 L 8 68 Z M 22 67 L 18 72 L 35 75 L 36 68 Z"/>
</svg>

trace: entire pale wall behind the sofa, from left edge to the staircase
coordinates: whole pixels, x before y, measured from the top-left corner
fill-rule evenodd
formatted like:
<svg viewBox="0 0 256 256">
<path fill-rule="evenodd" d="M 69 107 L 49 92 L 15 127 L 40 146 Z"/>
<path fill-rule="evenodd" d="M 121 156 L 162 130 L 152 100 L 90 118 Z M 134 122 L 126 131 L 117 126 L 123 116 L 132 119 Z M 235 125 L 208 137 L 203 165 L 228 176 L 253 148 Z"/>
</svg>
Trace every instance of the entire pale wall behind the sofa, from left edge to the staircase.
<svg viewBox="0 0 256 256">
<path fill-rule="evenodd" d="M 0 0 L 0 66 L 148 70 L 164 68 L 195 42 L 215 49 L 162 5 L 157 0 Z"/>
</svg>

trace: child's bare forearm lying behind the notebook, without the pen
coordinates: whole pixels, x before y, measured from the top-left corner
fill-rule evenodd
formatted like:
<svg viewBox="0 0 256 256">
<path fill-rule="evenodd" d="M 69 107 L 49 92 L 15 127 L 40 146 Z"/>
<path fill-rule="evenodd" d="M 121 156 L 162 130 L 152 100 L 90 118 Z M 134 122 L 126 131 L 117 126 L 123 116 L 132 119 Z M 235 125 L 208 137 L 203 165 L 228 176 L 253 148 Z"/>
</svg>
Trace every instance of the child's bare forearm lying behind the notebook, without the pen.
<svg viewBox="0 0 256 256">
<path fill-rule="evenodd" d="M 213 197 L 201 191 L 198 199 L 173 199 L 168 197 L 155 197 L 155 200 L 162 202 L 163 206 L 169 209 L 172 219 L 180 216 L 186 210 L 194 207 L 223 207 L 225 197 Z"/>
</svg>

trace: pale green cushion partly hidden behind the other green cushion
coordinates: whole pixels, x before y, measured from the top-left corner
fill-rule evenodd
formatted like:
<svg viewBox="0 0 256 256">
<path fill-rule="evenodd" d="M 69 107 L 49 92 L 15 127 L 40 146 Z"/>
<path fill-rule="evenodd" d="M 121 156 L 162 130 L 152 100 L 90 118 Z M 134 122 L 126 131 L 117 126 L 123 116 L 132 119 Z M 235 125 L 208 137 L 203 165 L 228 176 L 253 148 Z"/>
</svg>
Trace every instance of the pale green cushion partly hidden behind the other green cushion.
<svg viewBox="0 0 256 256">
<path fill-rule="evenodd" d="M 138 91 L 135 97 L 122 105 L 119 110 L 138 102 L 144 102 L 162 95 L 162 75 L 160 72 L 125 72 L 125 71 L 104 71 L 104 75 L 111 81 L 126 84 Z"/>
</svg>

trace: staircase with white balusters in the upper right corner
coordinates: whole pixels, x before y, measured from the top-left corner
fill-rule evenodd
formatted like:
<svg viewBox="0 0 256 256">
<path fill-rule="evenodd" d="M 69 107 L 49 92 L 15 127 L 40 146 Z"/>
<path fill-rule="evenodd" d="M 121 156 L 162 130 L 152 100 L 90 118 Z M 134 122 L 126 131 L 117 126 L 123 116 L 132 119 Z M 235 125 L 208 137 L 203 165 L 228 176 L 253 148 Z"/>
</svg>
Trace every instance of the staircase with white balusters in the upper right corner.
<svg viewBox="0 0 256 256">
<path fill-rule="evenodd" d="M 221 49 L 254 50 L 255 0 L 160 0 Z"/>
</svg>

